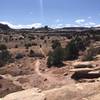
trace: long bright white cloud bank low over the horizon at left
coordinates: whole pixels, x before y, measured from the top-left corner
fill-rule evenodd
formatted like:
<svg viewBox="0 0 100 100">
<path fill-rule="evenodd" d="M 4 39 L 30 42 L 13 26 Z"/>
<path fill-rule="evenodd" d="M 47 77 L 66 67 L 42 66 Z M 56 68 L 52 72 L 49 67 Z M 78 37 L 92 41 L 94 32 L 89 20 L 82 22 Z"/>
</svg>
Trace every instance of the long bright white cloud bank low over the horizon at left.
<svg viewBox="0 0 100 100">
<path fill-rule="evenodd" d="M 29 24 L 29 25 L 15 25 L 15 24 L 11 24 L 10 22 L 7 22 L 7 21 L 0 21 L 0 23 L 7 24 L 9 27 L 14 28 L 14 29 L 32 28 L 32 27 L 38 28 L 38 27 L 42 26 L 41 23 L 33 23 L 33 24 Z"/>
</svg>

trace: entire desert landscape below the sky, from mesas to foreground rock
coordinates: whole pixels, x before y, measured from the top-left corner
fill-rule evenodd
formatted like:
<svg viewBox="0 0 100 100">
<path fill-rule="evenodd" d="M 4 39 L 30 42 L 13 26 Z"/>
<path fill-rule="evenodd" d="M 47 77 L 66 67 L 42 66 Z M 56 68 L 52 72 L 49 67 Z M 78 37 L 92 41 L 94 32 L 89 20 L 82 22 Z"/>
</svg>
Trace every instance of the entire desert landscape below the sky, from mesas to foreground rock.
<svg viewBox="0 0 100 100">
<path fill-rule="evenodd" d="M 0 100 L 100 100 L 99 32 L 0 24 Z"/>
</svg>

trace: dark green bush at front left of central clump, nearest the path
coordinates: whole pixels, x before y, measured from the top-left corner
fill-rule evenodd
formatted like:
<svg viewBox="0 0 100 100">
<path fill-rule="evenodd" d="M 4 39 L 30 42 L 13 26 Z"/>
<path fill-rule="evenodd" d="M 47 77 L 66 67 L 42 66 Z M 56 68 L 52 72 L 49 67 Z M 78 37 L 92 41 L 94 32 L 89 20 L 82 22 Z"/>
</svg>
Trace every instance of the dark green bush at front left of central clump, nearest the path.
<svg viewBox="0 0 100 100">
<path fill-rule="evenodd" d="M 63 61 L 63 48 L 57 47 L 53 52 L 49 53 L 49 57 L 47 60 L 48 67 L 51 66 L 61 66 Z"/>
</svg>

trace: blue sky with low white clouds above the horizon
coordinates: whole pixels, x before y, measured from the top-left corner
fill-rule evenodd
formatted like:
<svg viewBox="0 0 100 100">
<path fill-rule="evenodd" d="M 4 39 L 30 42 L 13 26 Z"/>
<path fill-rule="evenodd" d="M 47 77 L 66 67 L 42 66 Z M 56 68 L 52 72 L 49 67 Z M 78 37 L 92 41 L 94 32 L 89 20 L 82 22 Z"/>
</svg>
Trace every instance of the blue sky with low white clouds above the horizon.
<svg viewBox="0 0 100 100">
<path fill-rule="evenodd" d="M 13 28 L 100 26 L 100 0 L 0 0 L 0 22 Z"/>
</svg>

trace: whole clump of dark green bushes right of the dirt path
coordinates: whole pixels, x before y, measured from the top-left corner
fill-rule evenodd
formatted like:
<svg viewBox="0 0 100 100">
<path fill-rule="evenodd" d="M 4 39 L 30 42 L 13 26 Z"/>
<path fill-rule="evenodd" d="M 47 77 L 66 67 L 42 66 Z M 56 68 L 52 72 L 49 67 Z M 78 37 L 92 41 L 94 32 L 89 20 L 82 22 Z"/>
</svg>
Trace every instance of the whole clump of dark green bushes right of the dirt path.
<svg viewBox="0 0 100 100">
<path fill-rule="evenodd" d="M 63 49 L 58 40 L 53 41 L 53 52 L 49 53 L 47 60 L 48 67 L 60 66 L 63 60 L 74 60 L 79 57 L 79 51 L 85 50 L 83 40 L 79 37 L 72 39 Z"/>
</svg>

